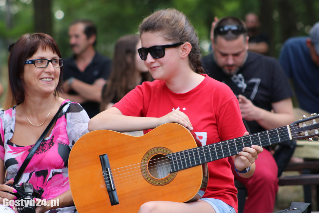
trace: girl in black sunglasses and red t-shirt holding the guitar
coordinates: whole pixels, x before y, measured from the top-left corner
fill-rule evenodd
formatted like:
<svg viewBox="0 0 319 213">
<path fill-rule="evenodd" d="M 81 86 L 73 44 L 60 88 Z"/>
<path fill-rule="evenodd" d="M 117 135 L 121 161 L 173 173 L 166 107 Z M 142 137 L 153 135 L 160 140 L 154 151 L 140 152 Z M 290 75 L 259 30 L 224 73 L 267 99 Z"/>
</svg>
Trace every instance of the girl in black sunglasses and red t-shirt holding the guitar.
<svg viewBox="0 0 319 213">
<path fill-rule="evenodd" d="M 153 13 L 140 24 L 140 37 L 139 55 L 155 81 L 137 86 L 113 107 L 93 117 L 90 131 L 147 133 L 174 122 L 186 127 L 198 146 L 247 134 L 234 93 L 203 74 L 198 37 L 182 12 L 167 9 Z M 254 161 L 262 150 L 260 146 L 245 147 L 244 152 L 233 156 L 240 176 L 253 174 Z M 208 187 L 200 200 L 150 201 L 141 205 L 139 212 L 237 212 L 237 190 L 227 158 L 209 162 L 208 173 Z"/>
</svg>

